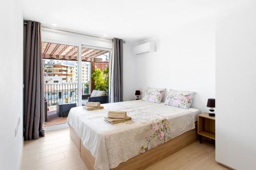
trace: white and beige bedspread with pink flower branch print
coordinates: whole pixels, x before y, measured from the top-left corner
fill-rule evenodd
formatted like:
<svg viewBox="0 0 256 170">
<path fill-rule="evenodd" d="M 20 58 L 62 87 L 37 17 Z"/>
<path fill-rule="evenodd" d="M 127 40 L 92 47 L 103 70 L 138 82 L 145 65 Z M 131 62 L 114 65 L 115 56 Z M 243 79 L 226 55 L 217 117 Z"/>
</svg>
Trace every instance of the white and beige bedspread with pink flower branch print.
<svg viewBox="0 0 256 170">
<path fill-rule="evenodd" d="M 103 104 L 103 110 L 72 108 L 67 123 L 95 157 L 94 169 L 104 170 L 144 153 L 195 128 L 198 109 L 181 109 L 145 101 Z M 126 111 L 130 122 L 111 125 L 103 117 L 109 110 Z"/>
</svg>

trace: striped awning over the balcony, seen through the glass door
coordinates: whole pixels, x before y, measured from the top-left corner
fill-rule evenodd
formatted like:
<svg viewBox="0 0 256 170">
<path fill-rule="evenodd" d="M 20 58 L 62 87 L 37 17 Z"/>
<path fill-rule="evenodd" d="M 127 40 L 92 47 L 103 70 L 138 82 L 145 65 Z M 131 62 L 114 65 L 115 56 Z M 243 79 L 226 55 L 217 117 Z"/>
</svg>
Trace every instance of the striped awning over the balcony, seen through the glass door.
<svg viewBox="0 0 256 170">
<path fill-rule="evenodd" d="M 105 50 L 82 47 L 82 61 L 93 61 L 93 58 L 106 53 L 109 52 Z M 45 59 L 77 60 L 78 47 L 42 42 L 42 57 Z"/>
</svg>

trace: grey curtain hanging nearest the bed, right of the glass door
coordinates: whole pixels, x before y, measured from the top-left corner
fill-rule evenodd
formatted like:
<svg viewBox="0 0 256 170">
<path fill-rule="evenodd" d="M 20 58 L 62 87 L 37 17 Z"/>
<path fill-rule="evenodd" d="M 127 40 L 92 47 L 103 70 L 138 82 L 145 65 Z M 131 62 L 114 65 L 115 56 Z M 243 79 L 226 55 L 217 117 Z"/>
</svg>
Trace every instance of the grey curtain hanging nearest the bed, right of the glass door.
<svg viewBox="0 0 256 170">
<path fill-rule="evenodd" d="M 110 103 L 123 101 L 123 40 L 114 38 L 110 64 Z"/>
</svg>

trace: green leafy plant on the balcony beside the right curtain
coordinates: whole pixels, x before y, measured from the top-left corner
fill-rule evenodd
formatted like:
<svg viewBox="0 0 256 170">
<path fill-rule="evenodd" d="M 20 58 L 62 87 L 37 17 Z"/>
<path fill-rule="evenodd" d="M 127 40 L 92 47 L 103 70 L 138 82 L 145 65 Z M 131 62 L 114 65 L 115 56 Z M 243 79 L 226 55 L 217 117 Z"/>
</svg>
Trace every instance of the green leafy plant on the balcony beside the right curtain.
<svg viewBox="0 0 256 170">
<path fill-rule="evenodd" d="M 95 90 L 109 92 L 109 68 L 105 68 L 103 71 L 96 68 L 92 72 L 92 78 L 94 79 Z"/>
</svg>

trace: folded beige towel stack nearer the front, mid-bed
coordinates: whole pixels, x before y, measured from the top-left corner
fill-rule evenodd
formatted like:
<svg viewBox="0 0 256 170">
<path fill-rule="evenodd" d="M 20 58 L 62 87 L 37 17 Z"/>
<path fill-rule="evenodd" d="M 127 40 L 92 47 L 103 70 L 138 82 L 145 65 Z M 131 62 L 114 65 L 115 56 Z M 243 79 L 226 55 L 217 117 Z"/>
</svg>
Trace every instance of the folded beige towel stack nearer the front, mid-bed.
<svg viewBox="0 0 256 170">
<path fill-rule="evenodd" d="M 131 117 L 127 116 L 125 111 L 109 111 L 104 120 L 110 124 L 118 124 L 131 120 Z"/>
</svg>

